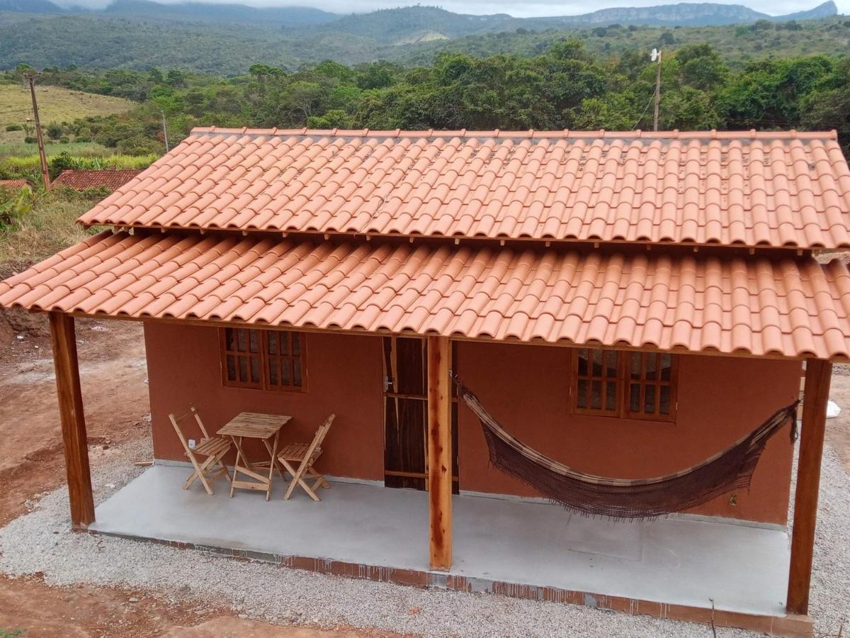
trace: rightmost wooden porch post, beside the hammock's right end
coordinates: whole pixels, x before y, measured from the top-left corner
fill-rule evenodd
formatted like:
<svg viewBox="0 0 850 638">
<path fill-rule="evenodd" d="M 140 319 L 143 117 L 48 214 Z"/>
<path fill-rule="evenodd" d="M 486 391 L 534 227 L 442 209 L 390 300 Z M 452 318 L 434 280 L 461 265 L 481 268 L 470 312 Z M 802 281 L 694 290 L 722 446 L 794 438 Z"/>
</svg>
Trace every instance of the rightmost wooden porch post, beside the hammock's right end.
<svg viewBox="0 0 850 638">
<path fill-rule="evenodd" d="M 797 461 L 794 527 L 791 530 L 791 570 L 788 574 L 789 613 L 808 614 L 808 592 L 812 581 L 814 527 L 818 516 L 820 458 L 824 452 L 826 402 L 830 398 L 832 363 L 820 359 L 806 362 L 803 386 L 802 432 Z"/>
</svg>

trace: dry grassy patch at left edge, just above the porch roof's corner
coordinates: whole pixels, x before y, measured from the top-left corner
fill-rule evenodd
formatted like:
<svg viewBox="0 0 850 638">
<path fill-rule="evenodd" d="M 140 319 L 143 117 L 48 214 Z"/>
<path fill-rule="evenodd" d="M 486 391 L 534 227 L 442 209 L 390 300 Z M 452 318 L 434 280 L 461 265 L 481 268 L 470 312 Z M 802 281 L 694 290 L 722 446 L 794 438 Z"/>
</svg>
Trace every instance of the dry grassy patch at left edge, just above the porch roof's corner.
<svg viewBox="0 0 850 638">
<path fill-rule="evenodd" d="M 75 222 L 95 202 L 65 192 L 37 195 L 35 204 L 22 219 L 0 231 L 0 264 L 28 265 L 47 259 L 101 230 L 87 231 Z"/>
</svg>

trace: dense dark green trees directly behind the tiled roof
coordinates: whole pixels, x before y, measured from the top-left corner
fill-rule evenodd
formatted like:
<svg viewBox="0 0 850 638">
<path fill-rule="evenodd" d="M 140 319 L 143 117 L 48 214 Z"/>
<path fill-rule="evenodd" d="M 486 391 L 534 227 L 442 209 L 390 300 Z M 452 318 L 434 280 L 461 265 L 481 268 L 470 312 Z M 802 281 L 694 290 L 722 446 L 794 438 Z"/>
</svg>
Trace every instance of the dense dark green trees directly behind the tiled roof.
<svg viewBox="0 0 850 638">
<path fill-rule="evenodd" d="M 6 71 L 14 81 L 26 71 Z M 324 61 L 299 71 L 253 65 L 239 77 L 172 69 L 43 70 L 39 82 L 139 102 L 132 111 L 49 122 L 54 139 L 128 154 L 164 151 L 194 126 L 297 128 L 599 129 L 652 127 L 655 64 L 646 50 L 601 58 L 578 38 L 538 55 L 439 54 L 433 65 Z M 664 56 L 660 127 L 837 128 L 850 142 L 850 60 L 771 58 L 730 68 L 715 48 Z"/>
</svg>

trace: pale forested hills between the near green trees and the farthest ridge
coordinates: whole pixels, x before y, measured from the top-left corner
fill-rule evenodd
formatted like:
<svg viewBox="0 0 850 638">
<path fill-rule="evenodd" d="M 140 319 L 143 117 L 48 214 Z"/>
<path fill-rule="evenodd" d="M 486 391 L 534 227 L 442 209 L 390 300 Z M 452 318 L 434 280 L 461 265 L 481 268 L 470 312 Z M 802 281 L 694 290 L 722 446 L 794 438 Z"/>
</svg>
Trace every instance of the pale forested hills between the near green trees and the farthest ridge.
<svg viewBox="0 0 850 638">
<path fill-rule="evenodd" d="M 0 12 L 0 69 L 27 62 L 39 68 L 74 64 L 146 70 L 159 66 L 235 76 L 254 63 L 296 71 L 305 64 L 328 59 L 346 64 L 392 60 L 405 66 L 420 66 L 432 64 L 445 52 L 477 57 L 541 55 L 564 37 L 578 37 L 589 53 L 604 57 L 640 48 L 709 43 L 733 68 L 769 56 L 840 54 L 850 50 L 850 20 L 841 15 L 725 26 L 644 26 L 625 22 L 558 26 L 553 19 L 512 19 L 498 23 L 498 31 L 473 33 L 467 23 L 457 23 L 458 17 L 463 16 L 417 6 L 295 28 L 111 14 Z"/>
</svg>

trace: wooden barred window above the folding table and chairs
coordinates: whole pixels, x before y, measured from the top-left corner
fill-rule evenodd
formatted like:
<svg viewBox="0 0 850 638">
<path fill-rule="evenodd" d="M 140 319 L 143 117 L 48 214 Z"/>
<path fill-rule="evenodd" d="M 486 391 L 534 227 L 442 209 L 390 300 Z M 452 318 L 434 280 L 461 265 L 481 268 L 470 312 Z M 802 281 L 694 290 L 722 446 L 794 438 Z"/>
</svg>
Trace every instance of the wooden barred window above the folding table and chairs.
<svg viewBox="0 0 850 638">
<path fill-rule="evenodd" d="M 264 390 L 302 390 L 303 334 L 285 330 L 223 328 L 224 385 Z"/>
</svg>

